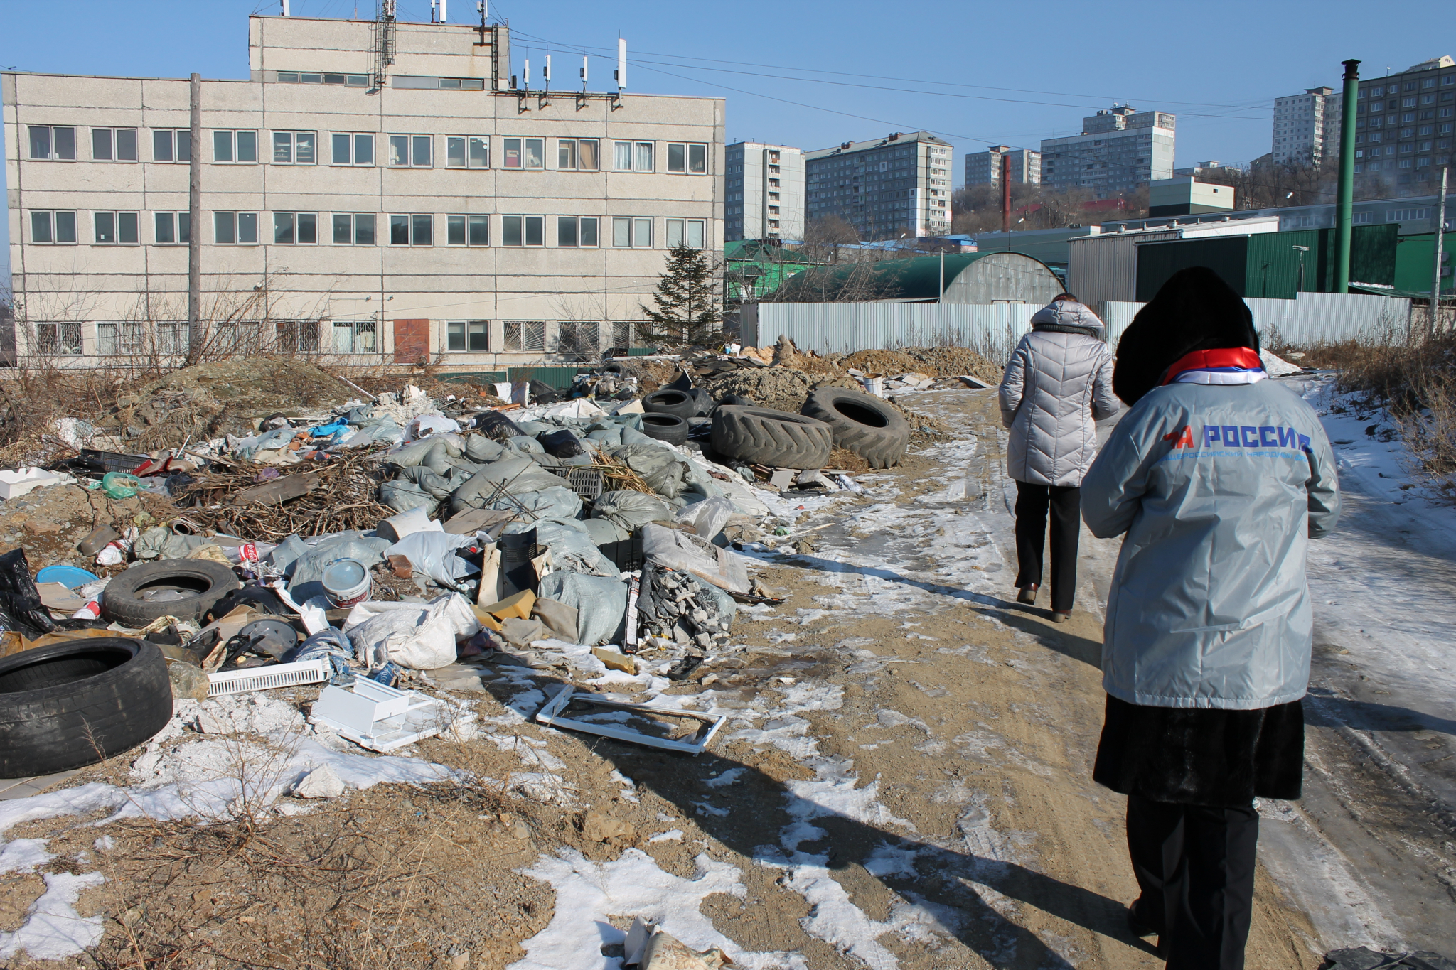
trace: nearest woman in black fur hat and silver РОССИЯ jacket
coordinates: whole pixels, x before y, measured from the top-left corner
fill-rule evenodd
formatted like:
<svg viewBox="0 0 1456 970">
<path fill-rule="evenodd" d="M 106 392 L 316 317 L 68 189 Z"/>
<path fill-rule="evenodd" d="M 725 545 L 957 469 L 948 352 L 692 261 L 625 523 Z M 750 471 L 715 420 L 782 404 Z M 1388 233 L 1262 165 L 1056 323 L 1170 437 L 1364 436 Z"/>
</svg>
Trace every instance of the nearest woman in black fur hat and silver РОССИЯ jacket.
<svg viewBox="0 0 1456 970">
<path fill-rule="evenodd" d="M 1179 270 L 1139 311 L 1112 385 L 1130 410 L 1082 486 L 1092 535 L 1124 537 L 1092 778 L 1127 795 L 1133 929 L 1159 934 L 1169 970 L 1241 970 L 1254 798 L 1300 794 L 1305 550 L 1340 518 L 1335 462 L 1211 269 Z"/>
</svg>

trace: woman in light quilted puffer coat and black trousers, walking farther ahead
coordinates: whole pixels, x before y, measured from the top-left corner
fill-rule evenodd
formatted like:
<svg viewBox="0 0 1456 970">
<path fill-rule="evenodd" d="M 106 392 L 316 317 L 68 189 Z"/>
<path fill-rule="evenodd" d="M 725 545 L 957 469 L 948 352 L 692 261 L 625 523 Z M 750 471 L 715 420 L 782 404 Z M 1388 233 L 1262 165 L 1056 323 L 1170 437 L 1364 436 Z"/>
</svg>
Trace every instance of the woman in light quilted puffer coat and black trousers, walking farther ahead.
<svg viewBox="0 0 1456 970">
<path fill-rule="evenodd" d="M 1016 480 L 1016 601 L 1037 602 L 1051 512 L 1051 618 L 1072 615 L 1082 529 L 1082 477 L 1096 455 L 1096 425 L 1118 412 L 1112 350 L 1102 321 L 1072 294 L 1031 318 L 1000 382 L 1008 474 Z"/>
</svg>

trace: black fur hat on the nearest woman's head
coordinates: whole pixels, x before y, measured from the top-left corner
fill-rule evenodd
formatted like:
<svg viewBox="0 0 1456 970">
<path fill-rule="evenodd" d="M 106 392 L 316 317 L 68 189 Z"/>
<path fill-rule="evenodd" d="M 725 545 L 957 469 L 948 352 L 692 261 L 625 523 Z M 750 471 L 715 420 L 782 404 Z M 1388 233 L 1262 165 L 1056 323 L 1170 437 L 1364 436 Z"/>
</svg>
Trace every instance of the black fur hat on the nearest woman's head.
<svg viewBox="0 0 1456 970">
<path fill-rule="evenodd" d="M 1207 266 L 1179 269 L 1137 311 L 1117 342 L 1112 393 L 1134 404 L 1178 358 L 1214 348 L 1259 349 L 1254 314 Z"/>
</svg>

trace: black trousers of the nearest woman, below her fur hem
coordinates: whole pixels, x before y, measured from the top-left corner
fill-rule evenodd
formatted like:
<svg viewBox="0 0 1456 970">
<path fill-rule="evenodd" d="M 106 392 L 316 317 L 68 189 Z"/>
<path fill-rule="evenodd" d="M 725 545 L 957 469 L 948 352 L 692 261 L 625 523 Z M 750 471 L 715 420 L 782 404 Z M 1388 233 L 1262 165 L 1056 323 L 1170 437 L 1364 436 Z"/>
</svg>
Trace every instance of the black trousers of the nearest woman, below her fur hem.
<svg viewBox="0 0 1456 970">
<path fill-rule="evenodd" d="M 1259 814 L 1127 797 L 1127 851 L 1168 970 L 1243 970 Z"/>
</svg>

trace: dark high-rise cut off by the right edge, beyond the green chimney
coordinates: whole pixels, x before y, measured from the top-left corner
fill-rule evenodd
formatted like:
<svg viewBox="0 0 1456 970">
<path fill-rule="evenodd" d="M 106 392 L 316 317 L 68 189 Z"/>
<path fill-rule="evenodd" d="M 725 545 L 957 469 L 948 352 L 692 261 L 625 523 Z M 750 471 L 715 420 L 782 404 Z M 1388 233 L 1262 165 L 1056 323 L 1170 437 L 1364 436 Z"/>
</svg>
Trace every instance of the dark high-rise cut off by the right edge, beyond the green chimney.
<svg viewBox="0 0 1456 970">
<path fill-rule="evenodd" d="M 1436 57 L 1360 81 L 1356 183 L 1361 195 L 1428 195 L 1452 163 L 1456 61 Z"/>
</svg>

